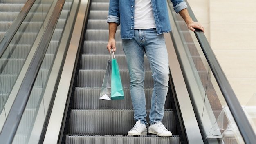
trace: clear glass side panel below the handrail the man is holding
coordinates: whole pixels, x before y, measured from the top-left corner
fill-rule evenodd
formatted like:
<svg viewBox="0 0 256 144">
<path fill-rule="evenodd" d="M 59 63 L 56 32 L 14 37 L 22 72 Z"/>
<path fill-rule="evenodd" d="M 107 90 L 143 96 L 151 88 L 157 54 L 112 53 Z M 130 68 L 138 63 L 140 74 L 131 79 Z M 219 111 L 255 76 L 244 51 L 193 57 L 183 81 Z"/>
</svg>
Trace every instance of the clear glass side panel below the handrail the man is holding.
<svg viewBox="0 0 256 144">
<path fill-rule="evenodd" d="M 178 39 L 182 41 L 182 44 L 176 44 L 179 47 L 175 47 L 175 51 L 188 85 L 202 136 L 209 144 L 243 144 L 243 138 L 195 34 L 187 29 L 182 17 L 173 10 L 171 2 L 169 6 L 173 18 L 171 21 L 174 21 L 173 39 L 175 42 L 178 42 Z"/>
</svg>

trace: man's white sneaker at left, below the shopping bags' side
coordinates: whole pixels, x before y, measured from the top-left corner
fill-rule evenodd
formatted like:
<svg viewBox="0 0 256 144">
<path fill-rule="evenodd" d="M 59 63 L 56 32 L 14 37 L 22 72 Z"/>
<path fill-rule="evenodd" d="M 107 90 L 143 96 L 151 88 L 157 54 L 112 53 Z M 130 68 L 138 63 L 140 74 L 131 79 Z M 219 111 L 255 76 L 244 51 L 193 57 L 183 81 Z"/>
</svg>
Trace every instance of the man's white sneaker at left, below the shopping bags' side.
<svg viewBox="0 0 256 144">
<path fill-rule="evenodd" d="M 148 129 L 145 124 L 141 124 L 140 120 L 136 122 L 134 127 L 128 131 L 128 135 L 147 135 Z"/>
</svg>

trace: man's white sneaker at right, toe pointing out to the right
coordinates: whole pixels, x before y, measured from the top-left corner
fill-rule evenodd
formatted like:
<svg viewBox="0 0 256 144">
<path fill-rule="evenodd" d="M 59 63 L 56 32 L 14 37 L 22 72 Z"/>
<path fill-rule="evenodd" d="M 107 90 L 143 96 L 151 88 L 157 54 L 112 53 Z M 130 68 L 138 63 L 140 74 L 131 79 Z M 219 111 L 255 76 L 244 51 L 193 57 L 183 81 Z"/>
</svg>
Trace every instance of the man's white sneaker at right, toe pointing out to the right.
<svg viewBox="0 0 256 144">
<path fill-rule="evenodd" d="M 162 122 L 159 122 L 157 124 L 153 124 L 149 126 L 148 133 L 156 134 L 161 137 L 170 137 L 172 136 L 171 131 L 168 131 Z"/>
</svg>

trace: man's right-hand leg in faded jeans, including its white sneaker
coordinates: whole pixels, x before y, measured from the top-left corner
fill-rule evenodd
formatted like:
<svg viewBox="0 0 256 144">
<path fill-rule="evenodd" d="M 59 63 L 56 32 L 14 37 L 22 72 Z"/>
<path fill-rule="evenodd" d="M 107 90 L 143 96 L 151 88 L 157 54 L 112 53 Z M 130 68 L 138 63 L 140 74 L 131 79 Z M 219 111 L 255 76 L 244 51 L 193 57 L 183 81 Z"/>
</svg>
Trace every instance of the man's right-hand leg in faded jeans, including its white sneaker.
<svg viewBox="0 0 256 144">
<path fill-rule="evenodd" d="M 164 35 L 157 35 L 155 29 L 143 30 L 141 33 L 145 36 L 145 53 L 148 57 L 154 79 L 148 133 L 163 137 L 171 136 L 172 133 L 162 124 L 169 81 L 168 54 Z"/>
</svg>

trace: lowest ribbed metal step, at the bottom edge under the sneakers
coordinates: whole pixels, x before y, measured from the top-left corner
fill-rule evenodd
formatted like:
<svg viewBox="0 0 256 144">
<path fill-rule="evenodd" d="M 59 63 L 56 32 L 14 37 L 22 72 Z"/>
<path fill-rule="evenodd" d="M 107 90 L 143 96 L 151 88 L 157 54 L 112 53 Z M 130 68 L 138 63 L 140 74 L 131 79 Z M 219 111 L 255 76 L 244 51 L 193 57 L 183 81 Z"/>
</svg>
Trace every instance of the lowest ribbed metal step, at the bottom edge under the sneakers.
<svg viewBox="0 0 256 144">
<path fill-rule="evenodd" d="M 144 135 L 67 135 L 66 144 L 180 144 L 180 137 L 157 137 Z"/>
</svg>

